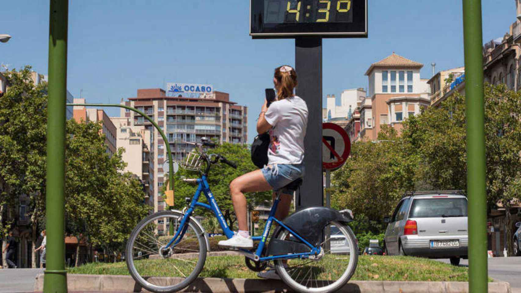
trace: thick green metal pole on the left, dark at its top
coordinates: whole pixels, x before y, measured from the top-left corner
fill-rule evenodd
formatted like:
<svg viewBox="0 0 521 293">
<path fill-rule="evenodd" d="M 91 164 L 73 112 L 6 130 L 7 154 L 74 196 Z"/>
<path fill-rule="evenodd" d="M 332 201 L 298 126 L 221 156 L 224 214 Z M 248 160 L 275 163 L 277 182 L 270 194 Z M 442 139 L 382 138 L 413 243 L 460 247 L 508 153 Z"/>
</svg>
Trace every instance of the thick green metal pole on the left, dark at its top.
<svg viewBox="0 0 521 293">
<path fill-rule="evenodd" d="M 51 0 L 47 109 L 47 262 L 43 291 L 67 292 L 64 239 L 68 0 Z"/>
</svg>

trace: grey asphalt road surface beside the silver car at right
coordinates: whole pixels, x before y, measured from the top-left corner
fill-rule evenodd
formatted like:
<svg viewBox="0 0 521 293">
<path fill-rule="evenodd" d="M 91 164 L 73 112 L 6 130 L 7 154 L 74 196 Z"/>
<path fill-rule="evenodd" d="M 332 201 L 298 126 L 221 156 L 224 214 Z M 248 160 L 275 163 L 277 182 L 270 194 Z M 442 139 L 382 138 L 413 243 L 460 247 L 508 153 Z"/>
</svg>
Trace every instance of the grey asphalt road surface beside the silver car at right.
<svg viewBox="0 0 521 293">
<path fill-rule="evenodd" d="M 450 263 L 449 259 L 440 259 Z M 468 266 L 468 260 L 462 259 L 460 266 Z M 490 258 L 488 259 L 489 277 L 497 281 L 510 283 L 512 293 L 521 293 L 521 257 Z"/>
</svg>

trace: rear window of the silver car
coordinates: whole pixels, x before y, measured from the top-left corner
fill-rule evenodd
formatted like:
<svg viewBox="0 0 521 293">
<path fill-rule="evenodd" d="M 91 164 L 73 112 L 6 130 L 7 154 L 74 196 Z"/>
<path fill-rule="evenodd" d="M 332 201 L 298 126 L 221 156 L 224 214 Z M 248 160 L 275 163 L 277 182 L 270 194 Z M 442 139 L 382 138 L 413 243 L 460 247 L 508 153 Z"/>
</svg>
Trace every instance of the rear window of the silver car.
<svg viewBox="0 0 521 293">
<path fill-rule="evenodd" d="M 466 198 L 421 198 L 414 199 L 409 218 L 442 218 L 467 216 Z"/>
</svg>

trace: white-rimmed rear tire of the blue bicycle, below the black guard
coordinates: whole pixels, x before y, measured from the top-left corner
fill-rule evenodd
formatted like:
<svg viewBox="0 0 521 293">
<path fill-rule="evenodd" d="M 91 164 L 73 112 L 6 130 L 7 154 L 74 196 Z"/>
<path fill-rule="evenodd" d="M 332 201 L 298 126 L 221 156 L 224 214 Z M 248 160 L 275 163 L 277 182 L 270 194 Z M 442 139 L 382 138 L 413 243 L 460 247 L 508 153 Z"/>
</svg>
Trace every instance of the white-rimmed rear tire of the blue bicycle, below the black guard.
<svg viewBox="0 0 521 293">
<path fill-rule="evenodd" d="M 351 228 L 349 226 L 344 226 L 337 221 L 331 221 L 328 224 L 337 226 L 339 228 L 339 230 L 342 232 L 342 234 L 344 234 L 346 241 L 349 244 L 350 261 L 348 263 L 348 266 L 346 267 L 344 273 L 336 281 L 334 281 L 332 283 L 331 283 L 331 281 L 333 281 L 333 280 L 317 279 L 319 276 L 321 276 L 321 273 L 322 273 L 321 271 L 315 275 L 317 278 L 313 279 L 312 278 L 313 277 L 313 268 L 311 267 L 309 269 L 309 273 L 306 273 L 306 275 L 310 274 L 309 276 L 311 278 L 308 281 L 306 281 L 306 283 L 303 285 L 300 282 L 297 282 L 295 280 L 300 276 L 300 272 L 299 272 L 299 275 L 296 275 L 295 279 L 293 279 L 292 276 L 294 276 L 295 273 L 292 273 L 291 275 L 288 273 L 289 271 L 292 270 L 292 267 L 285 267 L 283 264 L 283 261 L 280 259 L 275 260 L 275 270 L 277 271 L 277 274 L 280 276 L 282 281 L 284 283 L 286 283 L 286 285 L 288 285 L 293 290 L 303 292 L 303 293 L 334 292 L 334 291 L 337 291 L 340 288 L 342 288 L 342 286 L 344 286 L 345 283 L 347 283 L 351 279 L 353 274 L 355 273 L 356 265 L 358 263 L 358 245 L 356 244 L 356 237 L 353 234 L 353 231 L 351 230 Z M 283 240 L 283 239 L 286 239 L 286 237 L 288 235 L 289 235 L 289 232 L 286 229 L 281 229 L 276 237 L 280 240 Z M 329 239 L 331 239 L 331 238 L 329 238 Z M 327 241 L 327 239 L 326 239 L 326 241 Z M 326 242 L 326 241 L 324 241 L 324 242 Z M 322 245 L 322 246 L 324 246 L 324 245 Z M 325 254 L 325 256 L 326 256 L 326 254 Z M 333 257 L 331 257 L 331 258 L 333 258 Z M 324 259 L 324 261 L 326 261 L 326 259 L 324 257 L 322 259 Z M 318 260 L 318 261 L 320 261 L 320 260 Z M 298 261 L 299 260 L 297 260 L 297 262 Z M 292 260 L 290 259 L 288 262 L 292 262 Z M 313 260 L 311 260 L 307 263 L 312 263 L 312 262 L 313 262 Z M 299 267 L 299 265 L 296 265 L 295 267 Z M 307 267 L 304 269 L 304 271 L 307 271 Z M 309 281 L 311 281 L 311 286 L 313 286 L 313 282 L 315 282 L 317 287 L 308 287 L 307 284 L 309 283 Z M 325 286 L 319 287 L 318 286 L 319 282 L 321 282 L 322 285 L 325 285 Z"/>
</svg>

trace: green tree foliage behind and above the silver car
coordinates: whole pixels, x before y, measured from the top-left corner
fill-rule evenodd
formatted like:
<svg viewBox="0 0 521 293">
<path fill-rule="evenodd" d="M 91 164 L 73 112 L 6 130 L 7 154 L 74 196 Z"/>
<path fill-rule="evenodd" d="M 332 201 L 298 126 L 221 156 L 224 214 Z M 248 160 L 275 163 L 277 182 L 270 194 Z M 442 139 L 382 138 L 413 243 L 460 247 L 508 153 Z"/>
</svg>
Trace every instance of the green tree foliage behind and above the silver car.
<svg viewBox="0 0 521 293">
<path fill-rule="evenodd" d="M 521 190 L 521 94 L 505 85 L 485 86 L 487 200 L 507 206 Z M 349 208 L 371 223 L 360 232 L 383 232 L 405 190 L 466 190 L 465 96 L 455 93 L 403 122 L 398 136 L 387 125 L 379 143 L 357 142 L 333 173 L 332 206 Z M 469 195 L 472 197 L 472 195 Z M 371 222 L 373 221 L 373 222 Z"/>
</svg>

